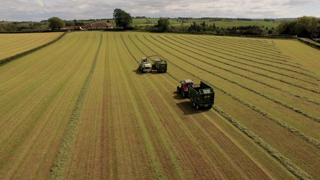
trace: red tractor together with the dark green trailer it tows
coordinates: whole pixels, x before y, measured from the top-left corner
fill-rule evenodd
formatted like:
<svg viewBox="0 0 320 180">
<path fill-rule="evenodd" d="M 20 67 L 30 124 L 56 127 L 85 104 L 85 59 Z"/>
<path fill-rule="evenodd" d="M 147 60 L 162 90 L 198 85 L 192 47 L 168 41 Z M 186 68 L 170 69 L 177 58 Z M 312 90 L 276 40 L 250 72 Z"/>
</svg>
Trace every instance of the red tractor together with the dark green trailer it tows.
<svg viewBox="0 0 320 180">
<path fill-rule="evenodd" d="M 180 81 L 181 85 L 177 86 L 177 92 L 181 92 L 184 98 L 188 97 L 193 101 L 196 109 L 210 109 L 214 104 L 214 90 L 211 86 L 203 81 L 200 84 L 193 84 L 193 80 L 186 79 Z"/>
</svg>

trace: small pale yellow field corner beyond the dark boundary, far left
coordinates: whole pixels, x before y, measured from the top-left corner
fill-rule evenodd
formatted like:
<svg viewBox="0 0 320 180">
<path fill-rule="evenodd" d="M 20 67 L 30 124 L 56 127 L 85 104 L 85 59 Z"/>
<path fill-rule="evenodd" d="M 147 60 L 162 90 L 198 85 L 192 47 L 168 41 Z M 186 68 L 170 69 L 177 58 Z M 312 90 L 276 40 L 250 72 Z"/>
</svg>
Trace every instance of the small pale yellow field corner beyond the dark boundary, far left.
<svg viewBox="0 0 320 180">
<path fill-rule="evenodd" d="M 50 42 L 62 33 L 0 33 L 0 60 Z"/>
</svg>

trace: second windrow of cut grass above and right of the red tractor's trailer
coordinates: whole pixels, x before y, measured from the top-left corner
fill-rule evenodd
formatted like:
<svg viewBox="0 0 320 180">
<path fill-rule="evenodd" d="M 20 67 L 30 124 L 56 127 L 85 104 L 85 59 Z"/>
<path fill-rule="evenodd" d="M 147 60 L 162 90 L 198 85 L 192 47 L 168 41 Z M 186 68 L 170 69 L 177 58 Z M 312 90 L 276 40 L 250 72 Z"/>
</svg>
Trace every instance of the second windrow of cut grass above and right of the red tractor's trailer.
<svg viewBox="0 0 320 180">
<path fill-rule="evenodd" d="M 152 38 L 154 38 L 154 37 L 152 37 Z M 157 40 L 158 41 L 158 39 L 155 39 L 155 40 Z M 163 42 L 161 42 L 162 44 L 164 44 L 164 45 L 166 45 L 165 43 L 163 43 Z M 178 45 L 176 45 L 176 46 L 178 46 Z M 171 47 L 172 48 L 172 47 Z M 174 47 L 173 47 L 174 48 Z M 182 52 L 181 52 L 182 53 Z M 200 54 L 199 54 L 200 55 Z M 179 57 L 178 57 L 179 58 Z M 194 57 L 193 57 L 194 58 Z M 180 58 L 181 59 L 181 58 Z M 181 59 L 181 60 L 184 60 L 184 59 Z M 199 59 L 198 59 L 199 60 Z M 184 60 L 184 61 L 186 61 L 186 60 Z M 188 62 L 188 61 L 186 61 L 187 63 L 190 63 L 190 62 Z M 218 77 L 220 77 L 220 78 L 223 78 L 223 79 L 225 79 L 225 80 L 228 80 L 228 81 L 230 81 L 230 82 L 232 82 L 232 83 L 234 83 L 234 84 L 237 84 L 237 85 L 239 85 L 239 86 L 241 86 L 241 87 L 243 87 L 243 88 L 245 88 L 245 89 L 247 89 L 247 90 L 250 90 L 250 91 L 252 91 L 252 92 L 254 92 L 254 93 L 256 93 L 256 94 L 259 94 L 259 95 L 261 95 L 261 96 L 263 96 L 263 97 L 265 97 L 265 98 L 267 98 L 267 99 L 269 99 L 269 100 L 272 100 L 273 102 L 276 102 L 276 103 L 278 103 L 278 104 L 280 104 L 280 105 L 282 105 L 282 106 L 284 106 L 284 107 L 287 107 L 287 108 L 289 108 L 289 109 L 291 109 L 291 110 L 293 110 L 293 111 L 295 111 L 295 112 L 298 112 L 298 113 L 301 113 L 301 114 L 303 114 L 304 116 L 306 116 L 306 117 L 309 117 L 309 118 L 311 118 L 311 119 L 313 119 L 313 120 L 315 120 L 315 121 L 317 121 L 317 122 L 320 122 L 320 119 L 319 118 L 317 118 L 317 117 L 315 117 L 315 116 L 313 116 L 313 115 L 310 115 L 310 114 L 308 114 L 308 113 L 306 113 L 306 112 L 302 112 L 301 110 L 298 110 L 298 109 L 296 109 L 295 107 L 292 107 L 292 106 L 290 106 L 290 105 L 288 105 L 288 104 L 285 104 L 285 103 L 283 103 L 283 102 L 281 102 L 280 100 L 276 100 L 276 99 L 274 99 L 273 97 L 271 97 L 271 96 L 268 96 L 268 95 L 266 95 L 265 93 L 262 93 L 262 92 L 259 92 L 259 91 L 256 91 L 256 90 L 254 90 L 254 89 L 252 89 L 252 88 L 250 88 L 250 87 L 247 87 L 247 86 L 245 86 L 245 85 L 243 85 L 243 84 L 240 84 L 240 83 L 238 83 L 238 82 L 236 82 L 236 81 L 234 81 L 234 80 L 230 80 L 230 79 L 228 79 L 228 78 L 226 78 L 226 77 L 224 77 L 224 76 L 221 76 L 221 75 L 219 75 L 218 73 L 216 73 L 216 72 L 212 72 L 212 71 L 208 71 L 207 69 L 204 69 L 204 68 L 202 68 L 202 67 L 200 67 L 200 66 L 198 66 L 198 65 L 195 65 L 195 64 L 193 64 L 193 63 L 190 63 L 191 65 L 193 65 L 193 66 L 196 66 L 196 67 L 198 67 L 198 68 L 200 68 L 200 69 L 202 69 L 202 70 L 204 70 L 204 71 L 207 71 L 207 72 L 209 72 L 209 73 L 211 73 L 211 74 L 213 74 L 213 75 L 216 75 L 216 76 L 218 76 Z M 213 64 L 212 64 L 213 65 Z M 241 74 L 240 74 L 241 75 Z M 241 75 L 241 76 L 243 76 L 243 75 Z M 314 109 L 314 108 L 312 108 L 312 109 Z M 310 111 L 310 112 L 316 112 L 316 111 Z M 317 114 L 318 115 L 318 114 Z"/>
</svg>

